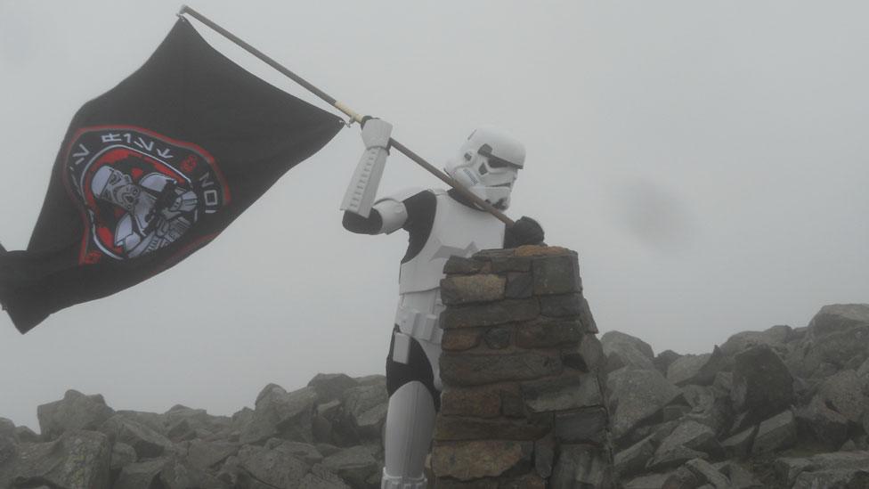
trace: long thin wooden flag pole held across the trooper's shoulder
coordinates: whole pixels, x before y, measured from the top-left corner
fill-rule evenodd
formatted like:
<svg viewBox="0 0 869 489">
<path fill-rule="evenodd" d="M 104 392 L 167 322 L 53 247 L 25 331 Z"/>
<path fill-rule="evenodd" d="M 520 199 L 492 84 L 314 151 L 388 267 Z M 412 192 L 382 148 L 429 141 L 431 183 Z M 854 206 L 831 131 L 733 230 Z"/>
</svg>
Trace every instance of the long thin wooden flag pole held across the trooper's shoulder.
<svg viewBox="0 0 869 489">
<path fill-rule="evenodd" d="M 305 80 L 305 78 L 299 77 L 298 75 L 296 75 L 296 73 L 293 73 L 292 71 L 290 71 L 289 69 L 287 69 L 286 67 L 281 65 L 278 61 L 272 60 L 272 58 L 266 56 L 264 53 L 262 53 L 261 51 L 256 49 L 256 47 L 254 47 L 252 45 L 248 45 L 248 43 L 241 40 L 240 37 L 237 37 L 234 34 L 232 34 L 230 31 L 223 29 L 222 27 L 217 25 L 213 20 L 208 19 L 206 16 L 202 15 L 199 12 L 196 12 L 195 10 L 191 9 L 189 6 L 182 5 L 181 10 L 178 11 L 178 16 L 181 17 L 185 13 L 190 14 L 190 16 L 192 18 L 199 20 L 200 22 L 205 24 L 210 29 L 215 30 L 215 32 L 217 32 L 221 36 L 226 37 L 227 39 L 229 39 L 230 41 L 232 41 L 236 45 L 239 45 L 240 48 L 244 49 L 248 53 L 253 54 L 257 58 L 259 58 L 261 61 L 264 61 L 265 64 L 271 66 L 273 69 L 277 69 L 284 76 L 295 81 L 297 84 L 305 87 L 306 90 L 308 90 L 312 94 L 320 97 L 320 99 L 323 102 L 326 102 L 329 105 L 331 105 L 332 107 L 336 108 L 337 110 L 340 110 L 341 112 L 343 112 L 347 117 L 351 118 L 351 120 L 353 122 L 358 122 L 361 124 L 363 116 L 361 116 L 358 112 L 353 111 L 352 109 L 347 107 L 344 103 L 338 102 L 334 97 L 330 96 L 326 92 L 323 92 L 320 88 L 313 86 L 311 83 L 309 83 L 307 80 Z M 508 216 L 506 216 L 503 212 L 499 211 L 497 208 L 494 208 L 489 202 L 477 197 L 475 195 L 475 193 L 467 190 L 467 187 L 465 187 L 461 183 L 457 182 L 450 175 L 447 175 L 447 174 L 443 173 L 441 170 L 437 169 L 437 167 L 435 167 L 431 163 L 427 162 L 426 159 L 423 159 L 417 153 L 410 151 L 410 149 L 407 146 L 395 141 L 393 138 L 389 139 L 389 144 L 391 147 L 393 147 L 396 150 L 398 150 L 399 152 L 401 152 L 404 156 L 410 158 L 410 160 L 412 160 L 414 163 L 418 164 L 420 167 L 425 168 L 429 173 L 431 173 L 432 175 L 435 175 L 436 177 L 441 179 L 441 181 L 443 181 L 443 183 L 446 183 L 446 184 L 450 185 L 452 188 L 456 189 L 456 191 L 458 191 L 463 197 L 467 198 L 467 200 L 471 200 L 477 206 L 479 206 L 480 208 L 483 208 L 484 210 L 489 212 L 492 216 L 497 217 L 502 223 L 507 224 L 508 227 L 515 224 L 513 222 L 513 220 L 510 219 Z"/>
</svg>

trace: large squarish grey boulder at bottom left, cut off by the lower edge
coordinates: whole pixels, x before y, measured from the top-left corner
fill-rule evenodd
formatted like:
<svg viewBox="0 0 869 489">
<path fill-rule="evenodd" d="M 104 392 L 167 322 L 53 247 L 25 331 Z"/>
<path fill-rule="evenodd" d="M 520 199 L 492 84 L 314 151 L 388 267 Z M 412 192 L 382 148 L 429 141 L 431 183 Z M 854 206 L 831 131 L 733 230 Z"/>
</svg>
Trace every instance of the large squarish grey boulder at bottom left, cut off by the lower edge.
<svg viewBox="0 0 869 489">
<path fill-rule="evenodd" d="M 67 429 L 57 440 L 21 446 L 14 485 L 109 489 L 111 444 L 102 433 Z"/>
</svg>

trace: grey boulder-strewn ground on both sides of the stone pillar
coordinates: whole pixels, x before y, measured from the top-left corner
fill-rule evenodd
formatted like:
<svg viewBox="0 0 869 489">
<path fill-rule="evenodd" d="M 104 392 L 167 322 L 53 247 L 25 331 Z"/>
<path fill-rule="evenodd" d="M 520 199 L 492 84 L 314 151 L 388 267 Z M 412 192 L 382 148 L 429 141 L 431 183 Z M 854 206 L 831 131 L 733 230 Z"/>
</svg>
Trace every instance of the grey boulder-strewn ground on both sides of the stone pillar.
<svg viewBox="0 0 869 489">
<path fill-rule="evenodd" d="M 704 355 L 654 355 L 618 331 L 601 343 L 626 489 L 869 487 L 869 305 Z M 37 408 L 40 434 L 0 418 L 0 488 L 376 488 L 386 403 L 382 376 L 343 374 L 271 384 L 231 417 L 69 390 Z"/>
</svg>

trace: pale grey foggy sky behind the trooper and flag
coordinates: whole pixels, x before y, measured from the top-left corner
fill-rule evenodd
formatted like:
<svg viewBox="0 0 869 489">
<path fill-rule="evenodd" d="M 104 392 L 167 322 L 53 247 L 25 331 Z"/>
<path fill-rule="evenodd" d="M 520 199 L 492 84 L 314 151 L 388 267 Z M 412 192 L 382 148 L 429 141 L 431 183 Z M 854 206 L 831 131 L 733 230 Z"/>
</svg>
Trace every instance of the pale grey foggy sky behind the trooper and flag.
<svg viewBox="0 0 869 489">
<path fill-rule="evenodd" d="M 69 119 L 137 69 L 179 3 L 0 0 L 0 242 L 26 247 Z M 436 166 L 475 127 L 527 148 L 510 216 L 580 254 L 602 332 L 655 352 L 869 302 L 862 2 L 192 2 Z M 198 26 L 291 94 L 292 82 Z M 21 336 L 0 317 L 0 416 L 67 388 L 116 409 L 231 414 L 269 382 L 383 373 L 406 236 L 345 232 L 344 129 L 227 231 L 133 289 Z M 382 192 L 439 182 L 388 161 Z"/>
</svg>

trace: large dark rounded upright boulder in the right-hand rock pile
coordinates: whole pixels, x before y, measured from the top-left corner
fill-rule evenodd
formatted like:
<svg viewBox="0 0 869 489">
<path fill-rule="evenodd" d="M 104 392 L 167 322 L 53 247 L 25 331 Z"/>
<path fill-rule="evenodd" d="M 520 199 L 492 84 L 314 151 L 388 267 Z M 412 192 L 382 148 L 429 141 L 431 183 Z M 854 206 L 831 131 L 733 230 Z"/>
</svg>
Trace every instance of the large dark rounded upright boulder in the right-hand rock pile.
<svg viewBox="0 0 869 489">
<path fill-rule="evenodd" d="M 793 402 L 791 372 L 769 346 L 751 346 L 736 355 L 731 397 L 736 412 L 766 419 Z"/>
</svg>

